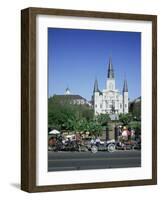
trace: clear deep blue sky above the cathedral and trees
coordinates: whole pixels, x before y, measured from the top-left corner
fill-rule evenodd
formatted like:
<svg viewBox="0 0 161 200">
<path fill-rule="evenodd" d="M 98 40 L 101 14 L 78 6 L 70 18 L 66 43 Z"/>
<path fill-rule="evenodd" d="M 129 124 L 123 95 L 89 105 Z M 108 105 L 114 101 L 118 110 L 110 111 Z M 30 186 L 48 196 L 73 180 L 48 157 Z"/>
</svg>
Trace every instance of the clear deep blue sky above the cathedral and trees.
<svg viewBox="0 0 161 200">
<path fill-rule="evenodd" d="M 129 98 L 141 96 L 141 33 L 48 28 L 48 95 L 69 87 L 90 100 L 95 78 L 105 89 L 110 56 L 116 88 L 126 77 Z"/>
</svg>

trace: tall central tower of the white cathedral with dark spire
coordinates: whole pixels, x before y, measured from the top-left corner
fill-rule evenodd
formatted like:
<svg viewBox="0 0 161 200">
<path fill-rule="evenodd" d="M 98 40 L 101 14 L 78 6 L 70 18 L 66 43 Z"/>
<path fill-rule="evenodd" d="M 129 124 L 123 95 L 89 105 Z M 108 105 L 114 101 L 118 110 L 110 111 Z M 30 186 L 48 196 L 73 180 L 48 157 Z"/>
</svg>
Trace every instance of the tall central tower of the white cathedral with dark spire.
<svg viewBox="0 0 161 200">
<path fill-rule="evenodd" d="M 114 77 L 114 70 L 113 70 L 111 57 L 109 59 L 109 64 L 108 64 L 106 89 L 107 90 L 115 90 L 115 77 Z"/>
</svg>

